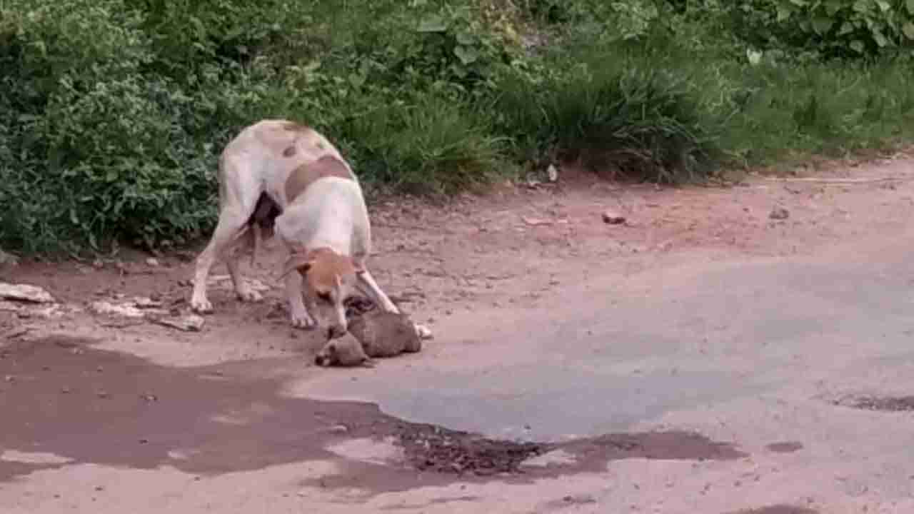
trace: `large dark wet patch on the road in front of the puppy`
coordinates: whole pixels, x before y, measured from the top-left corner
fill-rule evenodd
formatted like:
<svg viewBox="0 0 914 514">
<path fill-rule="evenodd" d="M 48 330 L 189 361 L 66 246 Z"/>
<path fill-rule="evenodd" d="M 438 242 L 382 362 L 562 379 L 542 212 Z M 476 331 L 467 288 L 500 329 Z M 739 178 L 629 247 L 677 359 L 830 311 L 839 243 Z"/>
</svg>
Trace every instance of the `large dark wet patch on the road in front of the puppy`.
<svg viewBox="0 0 914 514">
<path fill-rule="evenodd" d="M 251 377 L 251 369 L 262 371 L 270 361 L 168 368 L 92 344 L 49 337 L 0 348 L 0 455 L 54 456 L 0 459 L 0 481 L 84 463 L 218 475 L 327 460 L 342 472 L 322 478 L 324 487 L 394 491 L 601 471 L 624 458 L 745 456 L 729 444 L 676 432 L 555 444 L 493 440 L 409 423 L 372 403 L 282 396 L 276 373 Z M 283 365 L 287 360 L 275 364 Z M 372 441 L 398 451 L 360 455 L 360 448 L 374 448 Z M 522 466 L 550 452 L 569 458 Z"/>
</svg>

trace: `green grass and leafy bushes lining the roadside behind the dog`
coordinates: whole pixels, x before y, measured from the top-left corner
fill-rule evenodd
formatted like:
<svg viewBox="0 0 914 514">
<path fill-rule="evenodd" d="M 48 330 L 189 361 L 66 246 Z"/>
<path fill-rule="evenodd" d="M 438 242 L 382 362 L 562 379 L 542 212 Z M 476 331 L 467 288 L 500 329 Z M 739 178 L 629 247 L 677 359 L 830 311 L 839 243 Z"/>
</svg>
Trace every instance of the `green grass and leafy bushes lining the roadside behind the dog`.
<svg viewBox="0 0 914 514">
<path fill-rule="evenodd" d="M 750 64 L 732 13 L 664 2 L 7 0 L 0 248 L 195 240 L 221 148 L 267 117 L 322 131 L 370 192 L 434 195 L 560 158 L 684 183 L 914 137 L 910 59 Z"/>
</svg>

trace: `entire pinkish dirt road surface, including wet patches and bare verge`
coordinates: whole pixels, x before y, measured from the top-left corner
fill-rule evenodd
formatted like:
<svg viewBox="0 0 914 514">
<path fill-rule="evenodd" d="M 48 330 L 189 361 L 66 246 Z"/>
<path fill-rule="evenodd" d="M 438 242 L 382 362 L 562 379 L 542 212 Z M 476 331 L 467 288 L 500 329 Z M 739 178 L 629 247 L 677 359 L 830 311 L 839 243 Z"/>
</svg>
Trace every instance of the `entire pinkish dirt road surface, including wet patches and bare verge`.
<svg viewBox="0 0 914 514">
<path fill-rule="evenodd" d="M 312 365 L 276 248 L 200 332 L 92 307 L 183 313 L 188 255 L 5 267 L 58 304 L 0 302 L 0 512 L 914 512 L 912 209 L 905 156 L 377 206 L 435 339 L 376 369 Z"/>
</svg>

